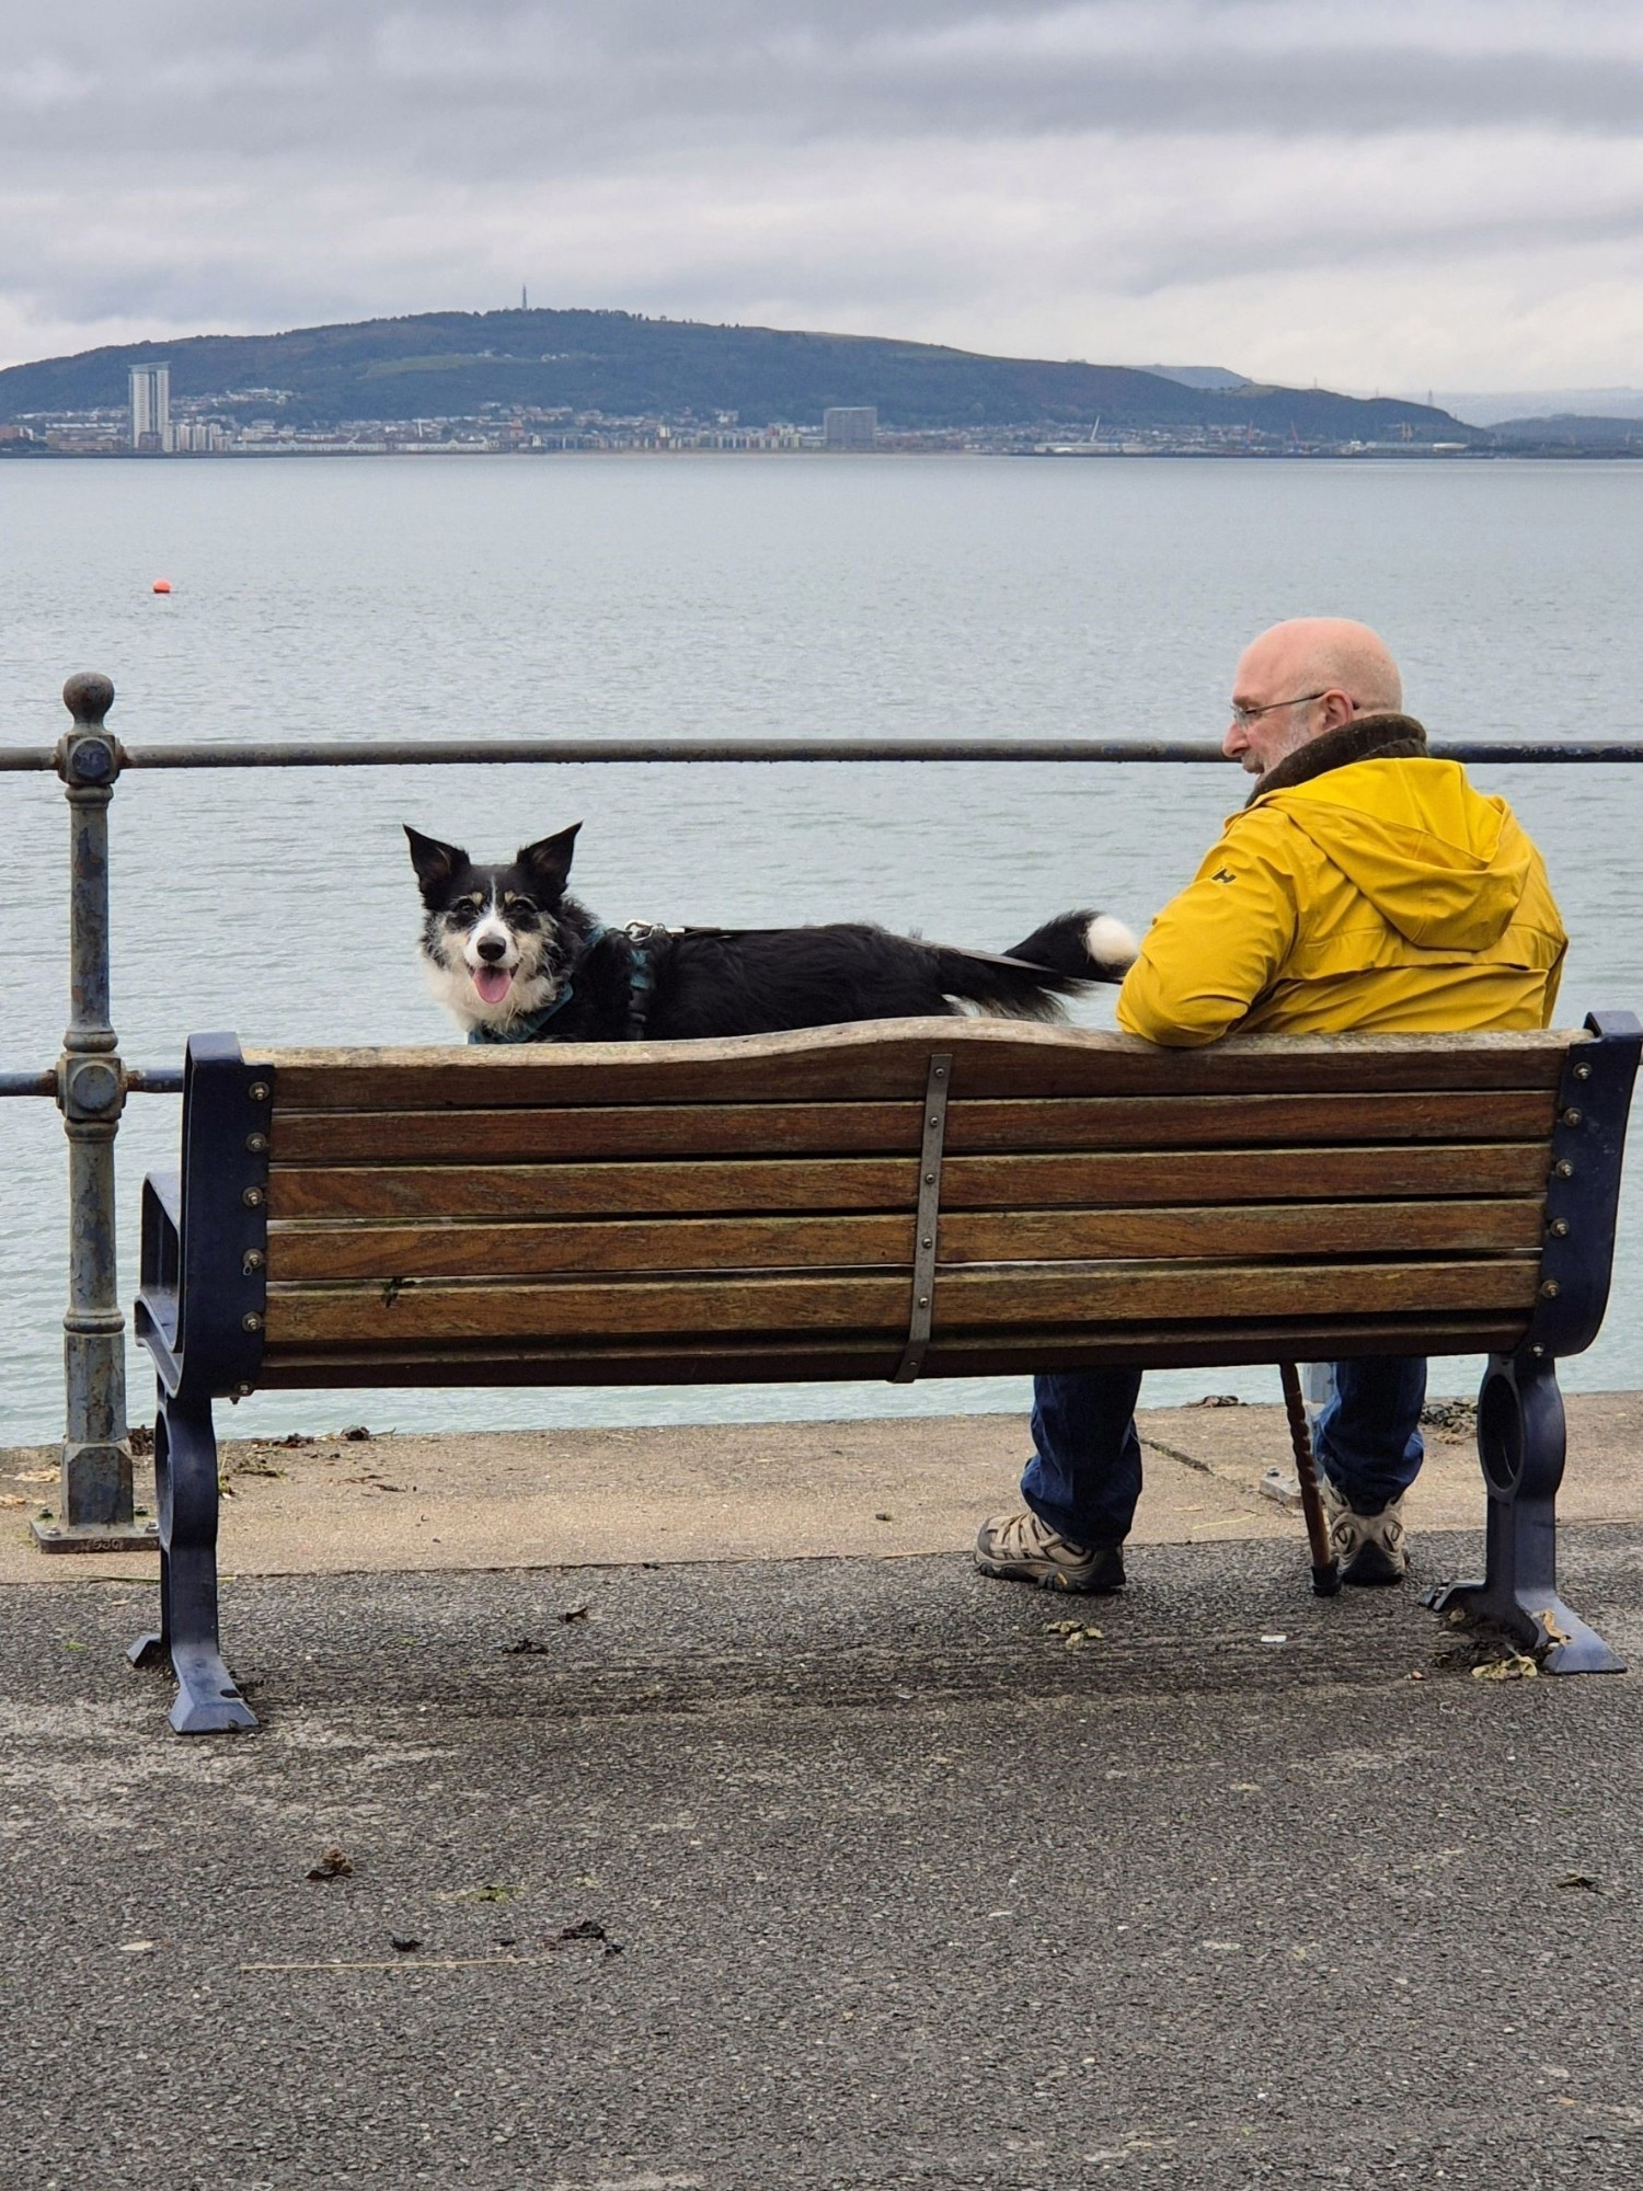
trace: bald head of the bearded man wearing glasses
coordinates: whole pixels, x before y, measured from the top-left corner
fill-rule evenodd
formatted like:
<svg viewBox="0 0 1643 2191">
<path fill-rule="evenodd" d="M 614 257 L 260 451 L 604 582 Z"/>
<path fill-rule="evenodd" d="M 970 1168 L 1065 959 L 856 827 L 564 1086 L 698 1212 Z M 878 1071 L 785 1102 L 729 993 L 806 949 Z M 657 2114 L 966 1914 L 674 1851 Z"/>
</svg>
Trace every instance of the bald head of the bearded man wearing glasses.
<svg viewBox="0 0 1643 2191">
<path fill-rule="evenodd" d="M 1354 714 L 1395 714 L 1402 703 L 1398 664 L 1369 624 L 1347 616 L 1295 616 L 1244 649 L 1222 752 L 1242 760 L 1251 776 L 1264 776 Z"/>
</svg>

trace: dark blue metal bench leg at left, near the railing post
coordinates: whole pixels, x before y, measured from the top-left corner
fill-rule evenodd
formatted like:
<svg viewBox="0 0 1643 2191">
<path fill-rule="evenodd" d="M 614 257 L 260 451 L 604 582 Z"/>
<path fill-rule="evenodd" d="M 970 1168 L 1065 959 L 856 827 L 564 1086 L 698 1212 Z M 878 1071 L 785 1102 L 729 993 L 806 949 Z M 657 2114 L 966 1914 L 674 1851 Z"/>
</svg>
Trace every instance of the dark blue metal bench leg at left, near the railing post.
<svg viewBox="0 0 1643 2191">
<path fill-rule="evenodd" d="M 223 1665 L 217 1634 L 217 1433 L 210 1400 L 166 1398 L 153 1418 L 153 1479 L 160 1494 L 160 1632 L 138 1637 L 134 1665 L 162 1652 L 177 1674 L 171 1724 L 180 1735 L 256 1727 Z"/>
</svg>

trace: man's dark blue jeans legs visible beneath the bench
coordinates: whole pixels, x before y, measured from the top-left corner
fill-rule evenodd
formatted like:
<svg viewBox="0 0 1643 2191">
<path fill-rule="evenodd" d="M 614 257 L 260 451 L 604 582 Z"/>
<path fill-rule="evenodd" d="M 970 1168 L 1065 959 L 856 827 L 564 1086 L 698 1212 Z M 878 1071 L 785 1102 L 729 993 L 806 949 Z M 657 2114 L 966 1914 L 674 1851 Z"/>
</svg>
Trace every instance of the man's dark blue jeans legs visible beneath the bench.
<svg viewBox="0 0 1643 2191">
<path fill-rule="evenodd" d="M 1317 1461 L 1347 1505 L 1378 1514 L 1420 1475 L 1426 1363 L 1417 1356 L 1334 1365 L 1317 1422 Z M 1122 1545 L 1141 1496 L 1135 1435 L 1139 1369 L 1071 1369 L 1032 1380 L 1034 1455 L 1021 1496 L 1073 1545 Z"/>
</svg>

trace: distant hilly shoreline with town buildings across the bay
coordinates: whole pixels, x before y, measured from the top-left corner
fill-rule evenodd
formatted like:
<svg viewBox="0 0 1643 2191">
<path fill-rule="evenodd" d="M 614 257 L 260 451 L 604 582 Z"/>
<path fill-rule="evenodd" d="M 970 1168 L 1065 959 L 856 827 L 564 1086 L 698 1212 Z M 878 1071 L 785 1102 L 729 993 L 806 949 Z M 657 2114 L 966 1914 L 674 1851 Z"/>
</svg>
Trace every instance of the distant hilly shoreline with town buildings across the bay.
<svg viewBox="0 0 1643 2191">
<path fill-rule="evenodd" d="M 123 401 L 120 401 L 123 399 Z M 1220 368 L 984 357 L 620 311 L 191 335 L 0 372 L 0 458 L 598 451 L 1032 458 L 1634 458 L 1632 416 L 1468 425 L 1431 399 Z"/>
</svg>

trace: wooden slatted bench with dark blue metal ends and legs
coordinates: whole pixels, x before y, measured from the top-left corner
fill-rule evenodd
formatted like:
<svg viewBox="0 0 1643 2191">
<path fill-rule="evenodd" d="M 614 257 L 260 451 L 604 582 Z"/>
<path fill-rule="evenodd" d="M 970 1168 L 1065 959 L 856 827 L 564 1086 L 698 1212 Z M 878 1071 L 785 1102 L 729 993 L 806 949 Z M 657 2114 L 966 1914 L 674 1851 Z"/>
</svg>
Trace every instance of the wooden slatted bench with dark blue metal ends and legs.
<svg viewBox="0 0 1643 2191">
<path fill-rule="evenodd" d="M 195 1036 L 142 1198 L 158 1637 L 180 1731 L 252 1727 L 217 1634 L 212 1400 L 256 1387 L 1001 1376 L 1487 1354 L 1487 1571 L 1433 1599 L 1553 1672 L 1555 1358 L 1604 1317 L 1643 1030 L 1233 1039 L 1001 1021 L 723 1043 Z"/>
</svg>

